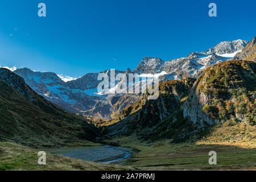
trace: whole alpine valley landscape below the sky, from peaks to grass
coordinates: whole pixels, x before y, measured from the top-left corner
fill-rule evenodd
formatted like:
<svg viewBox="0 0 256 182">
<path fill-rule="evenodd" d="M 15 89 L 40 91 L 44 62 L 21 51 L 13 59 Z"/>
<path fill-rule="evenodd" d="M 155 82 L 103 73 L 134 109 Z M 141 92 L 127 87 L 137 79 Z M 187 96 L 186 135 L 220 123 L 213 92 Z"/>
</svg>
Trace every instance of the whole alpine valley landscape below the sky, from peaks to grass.
<svg viewBox="0 0 256 182">
<path fill-rule="evenodd" d="M 0 68 L 0 170 L 255 170 L 255 39 L 115 71 L 159 76 L 156 100 L 98 92 L 98 75 L 110 70 L 64 81 Z M 48 165 L 37 164 L 38 150 Z"/>
</svg>

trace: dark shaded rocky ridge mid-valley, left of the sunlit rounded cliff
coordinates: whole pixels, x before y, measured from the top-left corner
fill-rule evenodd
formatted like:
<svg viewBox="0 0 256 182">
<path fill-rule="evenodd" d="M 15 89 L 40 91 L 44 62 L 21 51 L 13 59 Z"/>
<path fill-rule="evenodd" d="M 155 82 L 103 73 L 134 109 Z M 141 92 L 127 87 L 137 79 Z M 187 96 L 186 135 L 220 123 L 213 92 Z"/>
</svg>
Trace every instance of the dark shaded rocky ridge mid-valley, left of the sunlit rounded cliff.
<svg viewBox="0 0 256 182">
<path fill-rule="evenodd" d="M 193 78 L 184 78 L 183 80 L 164 81 L 159 85 L 159 97 L 157 100 L 147 100 L 148 94 L 145 94 L 141 100 L 122 110 L 117 118 L 111 121 L 112 125 L 106 127 L 107 137 L 117 137 L 123 135 L 136 134 L 143 139 L 157 140 L 165 137 L 174 137 L 176 140 L 187 138 L 186 132 L 178 136 L 172 127 L 177 126 L 177 130 L 183 130 L 180 127 L 186 123 L 180 109 L 182 103 L 187 98 L 189 90 L 192 88 Z M 193 127 L 191 123 L 185 124 L 187 132 Z M 180 138 L 180 139 L 178 139 Z"/>
</svg>

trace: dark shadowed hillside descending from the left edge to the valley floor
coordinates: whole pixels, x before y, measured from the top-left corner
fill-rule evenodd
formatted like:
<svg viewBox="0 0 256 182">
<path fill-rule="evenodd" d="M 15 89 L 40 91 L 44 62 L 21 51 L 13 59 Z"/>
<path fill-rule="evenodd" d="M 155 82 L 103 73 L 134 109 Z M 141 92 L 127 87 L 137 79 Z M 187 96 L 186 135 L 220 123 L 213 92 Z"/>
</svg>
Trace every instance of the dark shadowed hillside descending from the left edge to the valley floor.
<svg viewBox="0 0 256 182">
<path fill-rule="evenodd" d="M 0 140 L 34 148 L 93 140 L 98 130 L 57 109 L 15 73 L 0 68 Z"/>
</svg>

